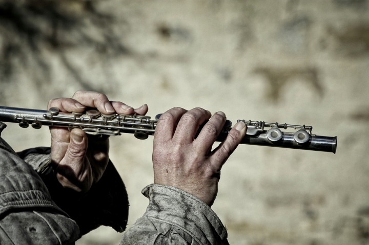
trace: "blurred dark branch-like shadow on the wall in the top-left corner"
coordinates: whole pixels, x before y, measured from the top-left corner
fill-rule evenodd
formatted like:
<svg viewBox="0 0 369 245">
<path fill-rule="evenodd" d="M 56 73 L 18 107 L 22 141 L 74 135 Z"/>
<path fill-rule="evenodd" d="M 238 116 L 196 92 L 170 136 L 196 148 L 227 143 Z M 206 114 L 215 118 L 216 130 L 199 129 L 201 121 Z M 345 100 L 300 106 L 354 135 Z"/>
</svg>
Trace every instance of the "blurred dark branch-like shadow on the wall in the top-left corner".
<svg viewBox="0 0 369 245">
<path fill-rule="evenodd" d="M 111 29 L 113 16 L 97 11 L 95 2 L 0 0 L 0 83 L 10 82 L 20 69 L 32 69 L 30 79 L 42 85 L 50 80 L 47 53 L 52 53 L 82 88 L 94 90 L 71 64 L 66 51 L 94 48 L 94 55 L 103 61 L 129 53 Z"/>
</svg>

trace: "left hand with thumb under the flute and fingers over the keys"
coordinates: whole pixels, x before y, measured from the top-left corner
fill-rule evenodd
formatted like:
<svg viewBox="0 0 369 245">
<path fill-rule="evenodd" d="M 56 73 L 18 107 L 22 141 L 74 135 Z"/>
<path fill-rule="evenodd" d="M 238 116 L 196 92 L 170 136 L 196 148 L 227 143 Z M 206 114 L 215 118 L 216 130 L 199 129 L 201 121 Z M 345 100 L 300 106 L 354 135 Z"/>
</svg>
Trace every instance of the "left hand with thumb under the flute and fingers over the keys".
<svg viewBox="0 0 369 245">
<path fill-rule="evenodd" d="M 56 107 L 60 112 L 84 112 L 86 107 L 95 107 L 104 114 L 145 115 L 146 104 L 134 109 L 118 101 L 109 101 L 106 95 L 90 91 L 77 91 L 72 98 L 52 99 L 48 109 Z M 109 161 L 108 137 L 87 137 L 74 128 L 50 127 L 51 161 L 59 183 L 76 191 L 86 192 L 100 180 Z"/>
</svg>

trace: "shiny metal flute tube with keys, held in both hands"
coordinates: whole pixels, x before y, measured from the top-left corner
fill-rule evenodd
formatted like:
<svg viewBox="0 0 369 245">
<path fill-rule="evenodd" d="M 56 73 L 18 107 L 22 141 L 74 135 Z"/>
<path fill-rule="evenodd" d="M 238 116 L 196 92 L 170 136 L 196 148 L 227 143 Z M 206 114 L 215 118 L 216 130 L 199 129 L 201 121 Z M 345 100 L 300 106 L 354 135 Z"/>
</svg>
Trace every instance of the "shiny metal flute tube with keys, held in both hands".
<svg viewBox="0 0 369 245">
<path fill-rule="evenodd" d="M 55 108 L 54 108 L 55 109 Z M 57 113 L 57 109 L 56 109 Z M 86 133 L 93 135 L 120 135 L 120 133 L 135 133 L 136 138 L 146 139 L 147 137 L 142 136 L 142 133 L 146 135 L 154 135 L 157 120 L 140 120 L 138 118 L 126 117 L 124 119 L 104 119 L 101 118 L 89 118 L 86 115 L 73 115 L 71 113 L 51 113 L 49 110 L 37 110 L 27 108 L 15 108 L 0 106 L 0 121 L 19 123 L 21 127 L 27 127 L 32 124 L 34 128 L 40 128 L 41 125 L 45 126 L 59 126 L 59 127 L 73 127 L 79 126 L 86 131 Z M 248 125 L 249 121 L 244 121 Z M 256 123 L 251 121 L 251 123 Z M 261 122 L 261 125 L 272 127 L 275 124 Z M 228 126 L 223 128 L 219 137 L 216 141 L 223 141 L 227 138 L 228 132 L 231 129 L 232 123 L 228 121 Z M 302 127 L 293 124 L 277 124 L 278 127 Z M 255 128 L 255 125 L 250 125 L 250 128 Z M 311 128 L 311 126 L 309 126 Z M 275 127 L 272 127 L 274 129 Z M 256 128 L 257 129 L 257 128 Z M 201 128 L 199 129 L 199 131 Z M 261 145 L 270 147 L 282 147 L 292 149 L 303 149 L 303 150 L 314 150 L 314 151 L 325 151 L 336 153 L 337 149 L 337 137 L 317 136 L 306 134 L 306 142 L 299 144 L 294 138 L 295 133 L 282 132 L 280 140 L 271 141 L 268 139 L 267 130 L 262 128 L 257 129 L 258 133 L 255 135 L 246 135 L 241 144 L 250 145 Z M 271 129 L 270 129 L 271 130 Z M 274 129 L 275 130 L 275 129 Z M 279 129 L 278 129 L 279 130 Z M 300 129 L 301 130 L 301 129 Z M 311 129 L 310 129 L 311 130 Z M 136 135 L 139 133 L 139 135 Z M 308 137 L 309 136 L 309 140 Z"/>
</svg>

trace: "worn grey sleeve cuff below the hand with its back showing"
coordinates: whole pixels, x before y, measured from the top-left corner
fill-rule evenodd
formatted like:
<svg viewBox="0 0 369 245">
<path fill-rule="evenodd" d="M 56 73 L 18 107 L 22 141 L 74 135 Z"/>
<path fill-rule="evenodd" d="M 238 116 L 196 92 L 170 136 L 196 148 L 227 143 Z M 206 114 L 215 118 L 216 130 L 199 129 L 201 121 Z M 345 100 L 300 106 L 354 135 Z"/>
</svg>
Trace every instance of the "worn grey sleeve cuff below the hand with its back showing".
<svg viewBox="0 0 369 245">
<path fill-rule="evenodd" d="M 123 235 L 123 244 L 229 244 L 227 230 L 214 211 L 196 196 L 172 186 L 142 190 L 149 206 Z"/>
</svg>

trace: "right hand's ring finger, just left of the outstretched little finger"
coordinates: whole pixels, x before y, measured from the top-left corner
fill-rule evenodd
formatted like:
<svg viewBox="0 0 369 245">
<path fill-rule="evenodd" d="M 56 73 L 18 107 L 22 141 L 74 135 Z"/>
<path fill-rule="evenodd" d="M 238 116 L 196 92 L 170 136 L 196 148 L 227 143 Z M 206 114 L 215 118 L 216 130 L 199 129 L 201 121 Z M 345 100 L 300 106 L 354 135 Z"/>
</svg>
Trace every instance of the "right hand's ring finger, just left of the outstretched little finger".
<svg viewBox="0 0 369 245">
<path fill-rule="evenodd" d="M 198 152 L 207 155 L 211 150 L 216 138 L 219 136 L 224 123 L 226 123 L 226 115 L 223 112 L 217 112 L 201 129 L 195 144 Z"/>
</svg>

